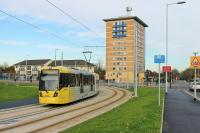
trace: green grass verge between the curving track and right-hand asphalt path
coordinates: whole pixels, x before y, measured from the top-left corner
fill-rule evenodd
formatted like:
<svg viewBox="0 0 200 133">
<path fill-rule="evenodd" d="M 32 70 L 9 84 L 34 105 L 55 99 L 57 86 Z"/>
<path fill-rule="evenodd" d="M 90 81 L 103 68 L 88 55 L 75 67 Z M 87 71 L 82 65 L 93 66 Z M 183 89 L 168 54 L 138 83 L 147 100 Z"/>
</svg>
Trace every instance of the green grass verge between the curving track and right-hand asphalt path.
<svg viewBox="0 0 200 133">
<path fill-rule="evenodd" d="M 159 133 L 164 93 L 158 106 L 158 89 L 141 88 L 139 97 L 62 133 Z"/>
</svg>

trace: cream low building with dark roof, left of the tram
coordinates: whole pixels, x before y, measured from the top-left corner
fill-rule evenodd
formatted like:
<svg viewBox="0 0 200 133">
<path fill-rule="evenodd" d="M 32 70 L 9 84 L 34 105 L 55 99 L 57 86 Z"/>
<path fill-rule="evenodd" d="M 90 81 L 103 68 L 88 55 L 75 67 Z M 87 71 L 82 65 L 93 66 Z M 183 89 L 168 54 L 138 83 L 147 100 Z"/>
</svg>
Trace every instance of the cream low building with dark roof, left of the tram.
<svg viewBox="0 0 200 133">
<path fill-rule="evenodd" d="M 51 59 L 24 60 L 14 64 L 17 80 L 37 80 L 41 68 L 48 66 Z"/>
</svg>

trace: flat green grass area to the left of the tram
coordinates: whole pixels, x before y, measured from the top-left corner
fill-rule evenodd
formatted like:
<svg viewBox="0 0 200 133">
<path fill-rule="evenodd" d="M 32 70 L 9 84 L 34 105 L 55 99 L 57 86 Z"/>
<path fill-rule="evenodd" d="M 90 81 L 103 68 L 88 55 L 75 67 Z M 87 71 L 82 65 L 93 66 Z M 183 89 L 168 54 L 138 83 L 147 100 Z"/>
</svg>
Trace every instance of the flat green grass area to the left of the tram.
<svg viewBox="0 0 200 133">
<path fill-rule="evenodd" d="M 34 98 L 38 86 L 28 84 L 0 83 L 0 103 Z"/>
</svg>

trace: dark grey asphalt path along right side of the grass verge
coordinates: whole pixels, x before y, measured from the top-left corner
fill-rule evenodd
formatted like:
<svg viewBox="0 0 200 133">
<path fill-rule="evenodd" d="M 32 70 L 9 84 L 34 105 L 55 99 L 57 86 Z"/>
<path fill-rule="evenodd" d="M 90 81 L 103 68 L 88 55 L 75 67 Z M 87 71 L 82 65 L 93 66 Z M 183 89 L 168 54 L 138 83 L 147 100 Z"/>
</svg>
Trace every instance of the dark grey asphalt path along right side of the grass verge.
<svg viewBox="0 0 200 133">
<path fill-rule="evenodd" d="M 163 133 L 200 133 L 200 102 L 183 90 L 188 84 L 178 81 L 165 97 Z"/>
</svg>

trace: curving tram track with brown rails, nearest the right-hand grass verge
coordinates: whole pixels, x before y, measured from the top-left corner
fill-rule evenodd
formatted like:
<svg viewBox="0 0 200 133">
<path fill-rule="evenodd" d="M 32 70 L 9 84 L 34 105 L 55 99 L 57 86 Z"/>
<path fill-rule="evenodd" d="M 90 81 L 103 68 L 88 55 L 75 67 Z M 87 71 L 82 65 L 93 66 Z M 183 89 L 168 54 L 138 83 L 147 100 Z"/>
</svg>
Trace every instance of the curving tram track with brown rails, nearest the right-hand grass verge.
<svg viewBox="0 0 200 133">
<path fill-rule="evenodd" d="M 76 108 L 70 109 L 70 110 L 64 110 L 64 111 L 59 111 L 59 112 L 55 112 L 55 113 L 49 112 L 48 115 L 43 115 L 42 117 L 37 117 L 37 118 L 34 118 L 34 119 L 21 121 L 21 122 L 16 123 L 16 124 L 7 125 L 7 126 L 0 128 L 0 132 L 7 132 L 7 131 L 12 132 L 12 131 L 15 131 L 15 129 L 23 129 L 25 127 L 29 127 L 29 126 L 34 125 L 34 124 L 37 125 L 37 123 L 41 123 L 42 121 L 48 121 L 48 120 L 56 118 L 56 117 L 62 117 L 62 115 L 69 114 L 69 113 L 72 113 L 72 112 L 76 112 L 78 110 L 93 108 L 93 109 L 90 109 L 90 110 L 88 110 L 84 113 L 78 114 L 74 117 L 62 119 L 58 122 L 53 122 L 53 123 L 50 123 L 50 124 L 47 124 L 47 125 L 44 125 L 44 126 L 40 125 L 41 127 L 37 127 L 37 128 L 31 129 L 30 131 L 28 131 L 28 132 L 40 132 L 40 131 L 43 131 L 43 130 L 48 129 L 50 127 L 55 127 L 55 126 L 59 125 L 60 123 L 76 119 L 76 118 L 84 116 L 88 113 L 94 112 L 96 110 L 102 109 L 102 108 L 109 106 L 111 104 L 114 104 L 114 103 L 120 101 L 121 99 L 123 99 L 127 95 L 124 90 L 120 90 L 120 89 L 119 90 L 109 89 L 109 90 L 111 90 L 113 92 L 113 94 L 110 97 L 104 98 L 100 101 L 88 104 L 86 106 L 76 107 Z M 122 95 L 120 97 L 118 96 L 119 93 L 122 93 Z M 117 96 L 118 96 L 118 98 L 116 99 L 115 97 L 117 97 Z M 114 100 L 112 100 L 112 99 L 114 99 Z M 111 100 L 111 102 L 106 103 L 109 100 Z M 100 106 L 102 103 L 106 103 L 106 104 Z M 99 106 L 97 108 L 94 108 L 98 104 L 99 104 Z M 32 127 L 34 127 L 34 126 L 32 126 Z"/>
</svg>

